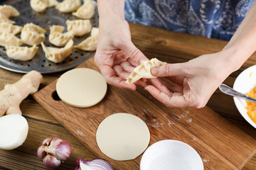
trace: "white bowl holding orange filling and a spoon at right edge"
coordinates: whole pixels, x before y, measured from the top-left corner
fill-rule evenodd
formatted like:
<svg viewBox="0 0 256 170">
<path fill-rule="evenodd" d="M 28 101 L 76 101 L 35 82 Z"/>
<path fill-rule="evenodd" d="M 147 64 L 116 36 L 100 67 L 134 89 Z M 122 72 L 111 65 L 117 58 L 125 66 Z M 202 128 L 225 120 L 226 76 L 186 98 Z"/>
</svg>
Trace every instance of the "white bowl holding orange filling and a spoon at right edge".
<svg viewBox="0 0 256 170">
<path fill-rule="evenodd" d="M 233 89 L 236 91 L 241 92 L 242 94 L 247 93 L 251 89 L 253 89 L 256 86 L 256 65 L 252 67 L 248 67 L 243 72 L 241 72 L 238 77 L 235 79 L 235 83 L 233 86 Z M 247 103 L 245 100 L 242 100 L 240 98 L 235 98 L 235 106 L 238 108 L 238 111 L 242 115 L 245 120 L 250 123 L 254 128 L 256 128 L 256 123 L 254 123 L 249 115 L 247 115 L 247 111 L 245 109 L 245 106 L 247 106 Z"/>
</svg>

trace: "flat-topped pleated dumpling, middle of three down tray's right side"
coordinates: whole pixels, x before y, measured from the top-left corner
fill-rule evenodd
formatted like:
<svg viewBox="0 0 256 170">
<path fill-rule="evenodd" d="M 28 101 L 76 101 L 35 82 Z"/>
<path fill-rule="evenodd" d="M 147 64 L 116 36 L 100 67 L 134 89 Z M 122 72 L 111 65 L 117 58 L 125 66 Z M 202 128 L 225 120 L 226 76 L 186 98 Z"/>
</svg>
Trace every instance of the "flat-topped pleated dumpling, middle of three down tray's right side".
<svg viewBox="0 0 256 170">
<path fill-rule="evenodd" d="M 90 20 L 68 20 L 66 21 L 66 24 L 68 26 L 68 30 L 71 30 L 75 36 L 82 36 L 86 33 L 90 33 L 90 30 L 92 29 Z"/>
</svg>

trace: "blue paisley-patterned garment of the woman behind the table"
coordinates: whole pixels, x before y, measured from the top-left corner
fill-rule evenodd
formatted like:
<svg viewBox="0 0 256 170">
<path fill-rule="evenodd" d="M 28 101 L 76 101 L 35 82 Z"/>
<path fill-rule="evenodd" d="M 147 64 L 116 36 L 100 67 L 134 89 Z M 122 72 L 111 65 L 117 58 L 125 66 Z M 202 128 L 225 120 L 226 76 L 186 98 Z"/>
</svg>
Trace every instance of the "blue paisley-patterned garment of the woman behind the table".
<svg viewBox="0 0 256 170">
<path fill-rule="evenodd" d="M 255 0 L 125 0 L 127 21 L 230 40 Z"/>
</svg>

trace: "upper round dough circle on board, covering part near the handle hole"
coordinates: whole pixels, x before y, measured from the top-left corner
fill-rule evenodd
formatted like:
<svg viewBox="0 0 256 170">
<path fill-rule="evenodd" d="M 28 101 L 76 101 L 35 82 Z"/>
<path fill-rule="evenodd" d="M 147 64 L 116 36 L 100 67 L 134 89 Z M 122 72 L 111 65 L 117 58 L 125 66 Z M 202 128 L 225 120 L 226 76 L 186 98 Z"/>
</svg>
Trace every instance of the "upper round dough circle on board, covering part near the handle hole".
<svg viewBox="0 0 256 170">
<path fill-rule="evenodd" d="M 72 69 L 58 79 L 56 91 L 60 99 L 68 105 L 86 108 L 104 98 L 107 83 L 102 74 L 94 69 Z"/>
</svg>

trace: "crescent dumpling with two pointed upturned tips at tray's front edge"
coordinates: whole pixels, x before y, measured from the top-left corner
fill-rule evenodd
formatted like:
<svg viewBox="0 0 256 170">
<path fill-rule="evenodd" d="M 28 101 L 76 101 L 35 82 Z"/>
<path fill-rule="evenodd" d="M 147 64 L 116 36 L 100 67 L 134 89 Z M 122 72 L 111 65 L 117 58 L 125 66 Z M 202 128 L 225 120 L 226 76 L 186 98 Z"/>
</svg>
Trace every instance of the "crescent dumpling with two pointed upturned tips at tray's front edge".
<svg viewBox="0 0 256 170">
<path fill-rule="evenodd" d="M 67 45 L 62 48 L 57 47 L 46 47 L 46 45 L 41 42 L 41 45 L 43 47 L 43 51 L 46 53 L 46 58 L 52 62 L 62 62 L 65 60 L 66 57 L 68 57 L 73 48 L 73 40 L 69 40 Z"/>
</svg>

